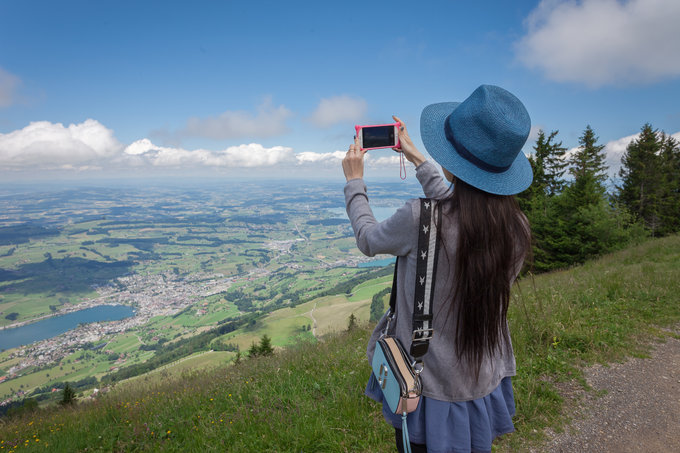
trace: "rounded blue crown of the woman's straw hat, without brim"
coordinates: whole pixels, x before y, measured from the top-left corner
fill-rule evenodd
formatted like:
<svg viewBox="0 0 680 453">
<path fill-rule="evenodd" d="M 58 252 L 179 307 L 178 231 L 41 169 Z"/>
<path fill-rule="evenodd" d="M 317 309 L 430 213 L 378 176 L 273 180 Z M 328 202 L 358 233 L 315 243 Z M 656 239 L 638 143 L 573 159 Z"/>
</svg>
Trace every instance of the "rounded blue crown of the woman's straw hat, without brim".
<svg viewBox="0 0 680 453">
<path fill-rule="evenodd" d="M 445 127 L 462 157 L 483 169 L 504 171 L 526 143 L 531 119 L 512 93 L 482 85 L 449 115 Z"/>
</svg>

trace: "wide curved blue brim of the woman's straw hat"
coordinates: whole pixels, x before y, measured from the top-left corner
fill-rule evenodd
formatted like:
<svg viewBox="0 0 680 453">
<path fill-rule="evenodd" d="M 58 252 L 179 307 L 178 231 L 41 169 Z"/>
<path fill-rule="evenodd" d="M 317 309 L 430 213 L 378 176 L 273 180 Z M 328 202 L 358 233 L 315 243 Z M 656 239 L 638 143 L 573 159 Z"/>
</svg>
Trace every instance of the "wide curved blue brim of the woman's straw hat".
<svg viewBox="0 0 680 453">
<path fill-rule="evenodd" d="M 517 153 L 508 170 L 488 172 L 462 157 L 446 139 L 444 123 L 460 102 L 431 104 L 420 115 L 420 137 L 432 158 L 456 178 L 497 195 L 514 195 L 527 189 L 533 181 L 529 160 L 522 151 Z"/>
</svg>

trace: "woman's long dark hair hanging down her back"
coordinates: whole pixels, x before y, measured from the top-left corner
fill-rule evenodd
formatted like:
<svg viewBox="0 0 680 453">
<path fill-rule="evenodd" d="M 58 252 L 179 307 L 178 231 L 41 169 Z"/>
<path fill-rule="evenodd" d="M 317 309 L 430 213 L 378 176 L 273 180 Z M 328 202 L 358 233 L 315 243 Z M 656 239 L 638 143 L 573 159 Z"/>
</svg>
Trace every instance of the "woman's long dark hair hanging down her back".
<svg viewBox="0 0 680 453">
<path fill-rule="evenodd" d="M 483 192 L 460 179 L 447 199 L 458 216 L 452 304 L 458 359 L 479 377 L 482 360 L 507 329 L 510 287 L 531 248 L 531 232 L 514 196 Z M 509 347 L 509 345 L 506 345 Z"/>
</svg>

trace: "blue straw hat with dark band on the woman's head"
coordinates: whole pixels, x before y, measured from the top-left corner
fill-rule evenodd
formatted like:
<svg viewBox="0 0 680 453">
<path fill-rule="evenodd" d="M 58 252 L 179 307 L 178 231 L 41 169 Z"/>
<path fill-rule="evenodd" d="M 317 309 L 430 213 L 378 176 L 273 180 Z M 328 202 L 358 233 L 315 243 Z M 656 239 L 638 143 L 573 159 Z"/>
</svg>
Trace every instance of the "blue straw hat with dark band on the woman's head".
<svg viewBox="0 0 680 453">
<path fill-rule="evenodd" d="M 432 158 L 456 178 L 498 195 L 531 185 L 531 164 L 522 152 L 529 113 L 512 93 L 482 85 L 463 102 L 428 105 L 420 135 Z"/>
</svg>

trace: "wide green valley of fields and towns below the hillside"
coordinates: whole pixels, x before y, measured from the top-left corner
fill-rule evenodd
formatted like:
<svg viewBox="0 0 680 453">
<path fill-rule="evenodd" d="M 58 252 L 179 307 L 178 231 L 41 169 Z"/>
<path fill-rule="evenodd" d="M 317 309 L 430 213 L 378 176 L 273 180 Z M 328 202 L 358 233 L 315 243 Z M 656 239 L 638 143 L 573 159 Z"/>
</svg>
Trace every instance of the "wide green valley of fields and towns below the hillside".
<svg viewBox="0 0 680 453">
<path fill-rule="evenodd" d="M 0 344 L 0 402 L 100 380 L 253 316 L 199 348 L 235 354 L 264 334 L 284 347 L 341 330 L 352 313 L 367 320 L 371 297 L 391 280 L 357 267 L 366 258 L 337 217 L 341 186 L 282 187 L 0 197 L 0 328 L 100 303 L 138 313 L 120 331 L 81 329 L 78 336 L 94 339 L 87 342 L 64 334 L 8 351 Z M 372 195 L 389 211 L 406 189 L 386 185 Z"/>
</svg>

